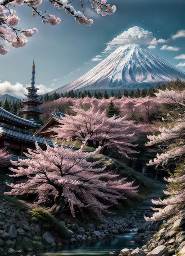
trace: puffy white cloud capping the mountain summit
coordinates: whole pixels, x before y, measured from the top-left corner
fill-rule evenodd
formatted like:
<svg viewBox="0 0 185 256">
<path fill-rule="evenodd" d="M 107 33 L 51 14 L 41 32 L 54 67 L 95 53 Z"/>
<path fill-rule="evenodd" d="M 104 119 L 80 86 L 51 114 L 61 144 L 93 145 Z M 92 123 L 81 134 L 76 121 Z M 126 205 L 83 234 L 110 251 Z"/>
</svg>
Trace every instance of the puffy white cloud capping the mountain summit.
<svg viewBox="0 0 185 256">
<path fill-rule="evenodd" d="M 122 34 L 114 38 L 108 45 L 122 45 L 124 43 L 138 43 L 142 45 L 157 45 L 158 43 L 164 43 L 165 39 L 156 39 L 152 32 L 144 30 L 141 27 L 132 27 Z"/>
</svg>

